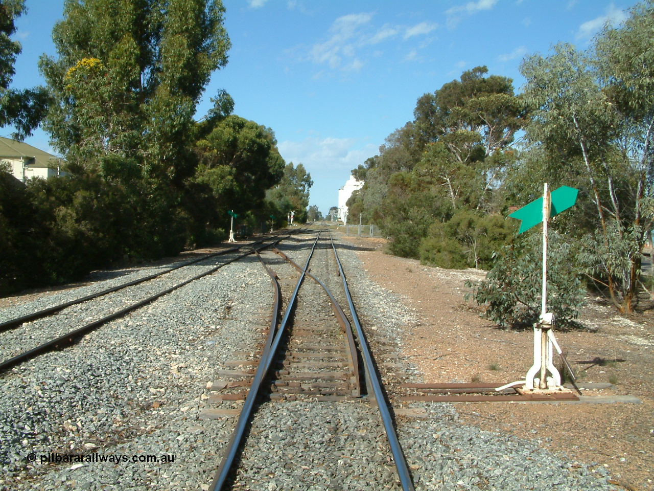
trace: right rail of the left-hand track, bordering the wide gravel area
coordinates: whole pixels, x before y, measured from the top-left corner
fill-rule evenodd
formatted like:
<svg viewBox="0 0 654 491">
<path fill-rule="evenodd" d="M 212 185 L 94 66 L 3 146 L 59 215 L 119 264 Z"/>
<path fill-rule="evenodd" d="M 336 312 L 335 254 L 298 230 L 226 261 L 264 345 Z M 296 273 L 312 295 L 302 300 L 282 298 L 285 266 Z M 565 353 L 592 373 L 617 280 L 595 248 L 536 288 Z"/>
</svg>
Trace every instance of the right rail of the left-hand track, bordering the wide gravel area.
<svg viewBox="0 0 654 491">
<path fill-rule="evenodd" d="M 7 359 L 0 363 L 0 371 L 4 371 L 7 369 L 10 369 L 12 367 L 15 367 L 16 365 L 23 363 L 24 361 L 27 361 L 29 359 L 33 359 L 34 357 L 37 357 L 40 354 L 43 354 L 45 352 L 49 352 L 52 350 L 56 350 L 59 348 L 65 348 L 66 346 L 71 346 L 71 344 L 75 344 L 77 340 L 82 338 L 83 336 L 87 335 L 88 333 L 94 331 L 98 327 L 100 327 L 103 324 L 106 324 L 109 321 L 112 321 L 113 319 L 120 318 L 132 310 L 136 310 L 137 308 L 143 307 L 146 304 L 149 304 L 150 302 L 153 302 L 154 300 L 163 297 L 163 295 L 167 295 L 168 293 L 171 293 L 171 291 L 175 291 L 178 288 L 181 288 L 184 285 L 188 285 L 188 283 L 194 282 L 196 280 L 199 280 L 200 278 L 203 278 L 204 276 L 207 276 L 209 274 L 215 273 L 217 270 L 222 268 L 223 266 L 226 266 L 227 264 L 234 263 L 235 261 L 238 261 L 239 259 L 243 259 L 243 257 L 249 256 L 252 254 L 255 250 L 262 250 L 262 249 L 267 249 L 267 247 L 271 247 L 271 245 L 276 245 L 277 243 L 281 242 L 283 239 L 279 239 L 277 242 L 271 242 L 270 244 L 267 245 L 262 245 L 261 247 L 258 247 L 256 249 L 252 249 L 252 251 L 248 251 L 247 253 L 243 253 L 233 259 L 230 259 L 229 261 L 226 261 L 225 263 L 218 264 L 217 266 L 211 268 L 208 271 L 205 271 L 201 274 L 198 274 L 194 276 L 193 278 L 190 278 L 189 280 L 184 280 L 184 282 L 177 283 L 177 285 L 173 285 L 170 288 L 167 288 L 163 291 L 160 291 L 159 293 L 156 293 L 155 295 L 152 295 L 152 297 L 148 297 L 147 299 L 141 300 L 140 302 L 137 302 L 135 304 L 130 305 L 129 307 L 126 307 L 122 310 L 119 310 L 118 312 L 114 312 L 113 314 L 110 314 L 109 316 L 105 316 L 101 319 L 98 319 L 97 321 L 94 321 L 90 324 L 84 325 L 78 329 L 75 329 L 75 331 L 71 331 L 70 333 L 67 333 L 63 336 L 59 336 L 56 339 L 50 340 L 48 342 L 45 342 L 44 344 L 41 344 L 37 346 L 36 348 L 32 348 L 29 351 L 26 351 L 24 353 L 21 353 L 19 355 L 16 355 L 10 359 Z"/>
</svg>

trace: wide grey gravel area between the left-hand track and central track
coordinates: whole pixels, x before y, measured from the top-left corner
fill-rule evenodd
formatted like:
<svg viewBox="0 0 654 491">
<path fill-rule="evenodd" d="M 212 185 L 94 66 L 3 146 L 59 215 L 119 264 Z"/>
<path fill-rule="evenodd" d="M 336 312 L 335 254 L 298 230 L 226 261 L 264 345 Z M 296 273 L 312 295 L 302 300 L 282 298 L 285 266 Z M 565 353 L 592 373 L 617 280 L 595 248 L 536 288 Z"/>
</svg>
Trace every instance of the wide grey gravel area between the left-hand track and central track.
<svg viewBox="0 0 654 491">
<path fill-rule="evenodd" d="M 3 375 L 0 489 L 199 489 L 230 435 L 229 422 L 198 421 L 207 382 L 258 340 L 248 319 L 268 314 L 270 297 L 248 257 Z M 55 452 L 130 462 L 41 464 Z M 175 462 L 131 462 L 163 455 Z"/>
</svg>

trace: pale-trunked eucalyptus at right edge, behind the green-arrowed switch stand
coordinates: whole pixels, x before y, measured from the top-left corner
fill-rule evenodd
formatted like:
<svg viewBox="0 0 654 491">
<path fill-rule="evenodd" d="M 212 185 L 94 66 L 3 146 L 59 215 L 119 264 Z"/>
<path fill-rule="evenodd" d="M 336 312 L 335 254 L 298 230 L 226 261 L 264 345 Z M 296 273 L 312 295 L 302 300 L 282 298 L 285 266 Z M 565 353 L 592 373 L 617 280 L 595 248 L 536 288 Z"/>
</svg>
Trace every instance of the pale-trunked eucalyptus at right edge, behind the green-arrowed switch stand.
<svg viewBox="0 0 654 491">
<path fill-rule="evenodd" d="M 550 177 L 581 178 L 594 227 L 583 238 L 587 274 L 621 312 L 637 302 L 642 248 L 654 219 L 653 3 L 606 26 L 594 49 L 559 44 L 524 60 L 532 107 L 527 136 Z"/>
</svg>

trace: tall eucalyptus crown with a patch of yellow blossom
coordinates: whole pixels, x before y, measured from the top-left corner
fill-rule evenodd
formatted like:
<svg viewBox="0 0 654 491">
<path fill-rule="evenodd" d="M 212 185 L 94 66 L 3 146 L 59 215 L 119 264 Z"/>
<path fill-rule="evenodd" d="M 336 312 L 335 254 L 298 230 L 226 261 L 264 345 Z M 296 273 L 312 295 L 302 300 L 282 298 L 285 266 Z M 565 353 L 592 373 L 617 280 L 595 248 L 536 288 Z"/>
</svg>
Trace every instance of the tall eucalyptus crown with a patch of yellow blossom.
<svg viewBox="0 0 654 491">
<path fill-rule="evenodd" d="M 114 155 L 189 175 L 196 105 L 230 48 L 220 0 L 65 0 L 63 14 L 58 58 L 40 62 L 54 146 L 82 166 Z"/>
</svg>

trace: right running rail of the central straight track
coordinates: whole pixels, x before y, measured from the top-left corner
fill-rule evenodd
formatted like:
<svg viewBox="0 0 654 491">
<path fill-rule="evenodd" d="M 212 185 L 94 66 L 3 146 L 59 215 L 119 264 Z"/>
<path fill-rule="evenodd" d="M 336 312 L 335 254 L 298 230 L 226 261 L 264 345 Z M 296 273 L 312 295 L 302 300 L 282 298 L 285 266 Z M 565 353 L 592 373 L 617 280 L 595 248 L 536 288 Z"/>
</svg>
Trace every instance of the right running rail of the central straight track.
<svg viewBox="0 0 654 491">
<path fill-rule="evenodd" d="M 368 378 L 372 385 L 373 391 L 375 393 L 375 399 L 377 399 L 377 407 L 379 407 L 379 412 L 381 413 L 381 419 L 384 422 L 384 428 L 386 429 L 386 435 L 388 438 L 388 443 L 390 443 L 390 450 L 393 453 L 393 459 L 395 460 L 395 466 L 398 469 L 398 476 L 400 477 L 400 483 L 402 484 L 402 489 L 404 491 L 414 491 L 413 482 L 411 481 L 411 474 L 409 473 L 409 466 L 407 465 L 406 459 L 404 458 L 404 452 L 402 452 L 402 446 L 398 440 L 398 435 L 393 426 L 393 420 L 390 417 L 390 412 L 386 405 L 386 399 L 384 393 L 381 390 L 381 384 L 379 382 L 379 373 L 375 369 L 375 365 L 372 361 L 372 356 L 370 354 L 370 348 L 368 347 L 368 342 L 366 341 L 366 336 L 359 322 L 359 318 L 356 315 L 356 310 L 354 309 L 354 302 L 352 296 L 350 295 L 350 290 L 347 287 L 347 281 L 345 280 L 345 272 L 343 272 L 343 266 L 341 261 L 338 259 L 338 253 L 336 252 L 336 245 L 334 245 L 334 239 L 332 239 L 332 234 L 330 234 L 330 241 L 332 242 L 332 249 L 334 249 L 334 256 L 336 257 L 336 263 L 338 264 L 338 270 L 341 273 L 341 278 L 343 278 L 343 289 L 345 290 L 345 297 L 347 298 L 347 303 L 350 306 L 350 313 L 352 315 L 352 320 L 354 322 L 354 327 L 356 327 L 356 335 L 359 338 L 359 346 L 361 347 L 361 352 L 364 357 L 364 365 L 366 371 L 368 372 Z"/>
</svg>

